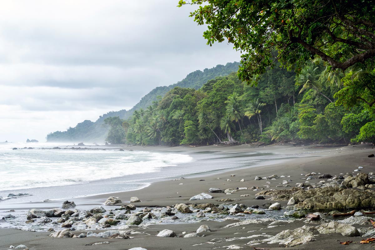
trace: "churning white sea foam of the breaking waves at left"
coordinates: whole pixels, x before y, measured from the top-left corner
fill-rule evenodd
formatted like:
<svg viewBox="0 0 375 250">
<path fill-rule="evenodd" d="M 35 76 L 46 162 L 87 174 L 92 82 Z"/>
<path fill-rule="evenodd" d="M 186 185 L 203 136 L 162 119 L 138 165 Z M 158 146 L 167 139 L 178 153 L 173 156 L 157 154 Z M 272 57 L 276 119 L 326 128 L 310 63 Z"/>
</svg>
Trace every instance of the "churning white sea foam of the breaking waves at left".
<svg viewBox="0 0 375 250">
<path fill-rule="evenodd" d="M 11 147 L 0 147 L 0 191 L 152 173 L 192 160 L 184 154 L 147 151 L 11 150 Z"/>
</svg>

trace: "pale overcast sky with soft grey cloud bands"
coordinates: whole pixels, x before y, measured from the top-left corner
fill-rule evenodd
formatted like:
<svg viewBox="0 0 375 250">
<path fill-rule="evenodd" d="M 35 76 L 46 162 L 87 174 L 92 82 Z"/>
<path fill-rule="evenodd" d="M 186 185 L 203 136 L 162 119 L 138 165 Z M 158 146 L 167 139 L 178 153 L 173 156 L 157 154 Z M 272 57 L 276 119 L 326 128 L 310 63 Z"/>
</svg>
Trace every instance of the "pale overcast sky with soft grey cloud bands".
<svg viewBox="0 0 375 250">
<path fill-rule="evenodd" d="M 0 142 L 130 109 L 157 86 L 240 61 L 178 0 L 12 0 L 0 8 Z"/>
</svg>

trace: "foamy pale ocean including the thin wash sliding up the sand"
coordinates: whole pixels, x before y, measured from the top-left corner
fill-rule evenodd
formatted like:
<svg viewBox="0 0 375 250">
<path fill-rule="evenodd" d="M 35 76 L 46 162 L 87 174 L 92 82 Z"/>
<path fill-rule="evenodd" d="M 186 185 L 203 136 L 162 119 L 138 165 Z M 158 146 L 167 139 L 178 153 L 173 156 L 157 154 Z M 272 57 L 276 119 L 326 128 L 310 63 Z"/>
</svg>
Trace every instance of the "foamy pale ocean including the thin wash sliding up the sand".
<svg viewBox="0 0 375 250">
<path fill-rule="evenodd" d="M 27 147 L 27 148 L 25 148 Z M 31 147 L 32 149 L 28 149 Z M 52 149 L 60 147 L 61 149 Z M 280 160 L 257 151 L 223 153 L 157 148 L 81 146 L 57 143 L 0 143 L 0 209 L 28 202 L 60 200 L 142 189 L 160 180 L 210 174 Z M 17 148 L 17 150 L 13 150 Z M 139 148 L 138 148 L 139 149 Z M 280 156 L 281 157 L 281 156 Z M 281 157 L 285 158 L 285 157 Z M 8 197 L 10 193 L 28 196 Z"/>
</svg>

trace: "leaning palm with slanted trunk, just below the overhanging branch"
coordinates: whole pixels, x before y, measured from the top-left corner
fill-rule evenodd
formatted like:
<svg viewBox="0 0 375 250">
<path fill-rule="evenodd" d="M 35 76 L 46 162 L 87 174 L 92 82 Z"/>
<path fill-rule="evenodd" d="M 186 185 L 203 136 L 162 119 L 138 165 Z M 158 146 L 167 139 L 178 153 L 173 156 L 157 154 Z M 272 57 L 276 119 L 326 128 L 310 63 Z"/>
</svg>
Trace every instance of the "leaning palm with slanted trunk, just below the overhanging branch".
<svg viewBox="0 0 375 250">
<path fill-rule="evenodd" d="M 302 88 L 299 94 L 301 94 L 303 91 L 305 91 L 308 88 L 313 88 L 319 94 L 326 97 L 327 100 L 332 102 L 331 99 L 329 99 L 325 94 L 319 91 L 322 88 L 322 82 L 319 80 L 320 74 L 318 74 L 318 69 L 319 67 L 315 67 L 314 64 L 309 63 L 296 76 L 296 84 L 302 85 Z"/>
</svg>

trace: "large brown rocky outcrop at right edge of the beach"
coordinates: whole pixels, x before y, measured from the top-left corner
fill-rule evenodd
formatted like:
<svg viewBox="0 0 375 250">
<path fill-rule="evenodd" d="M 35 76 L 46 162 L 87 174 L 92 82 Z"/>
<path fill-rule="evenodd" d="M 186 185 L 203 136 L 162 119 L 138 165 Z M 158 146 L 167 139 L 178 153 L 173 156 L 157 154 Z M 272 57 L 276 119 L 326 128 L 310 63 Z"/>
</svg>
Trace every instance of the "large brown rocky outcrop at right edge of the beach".
<svg viewBox="0 0 375 250">
<path fill-rule="evenodd" d="M 372 208 L 375 206 L 373 190 L 340 189 L 338 187 L 323 187 L 319 189 L 300 190 L 293 194 L 301 202 L 297 208 L 315 211 L 352 210 L 357 208 Z"/>
</svg>

